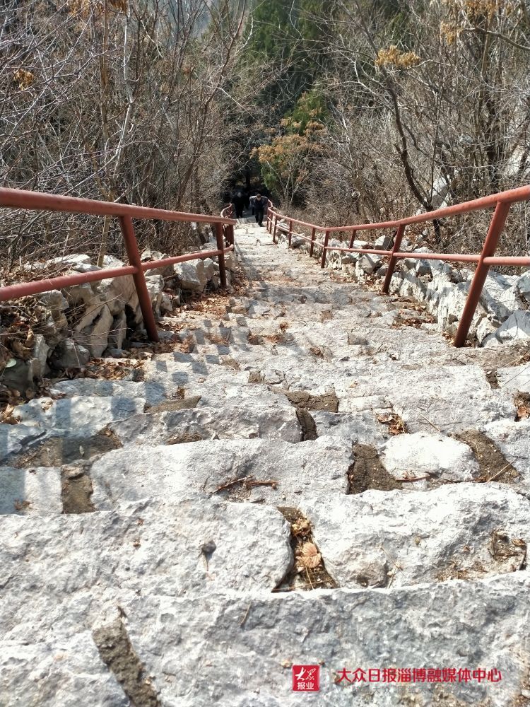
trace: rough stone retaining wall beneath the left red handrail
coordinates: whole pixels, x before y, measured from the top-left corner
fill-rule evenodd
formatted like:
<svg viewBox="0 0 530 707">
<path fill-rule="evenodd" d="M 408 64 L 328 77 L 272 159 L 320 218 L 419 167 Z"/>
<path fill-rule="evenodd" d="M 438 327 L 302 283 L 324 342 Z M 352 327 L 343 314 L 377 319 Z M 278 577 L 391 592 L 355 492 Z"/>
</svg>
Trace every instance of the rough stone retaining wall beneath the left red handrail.
<svg viewBox="0 0 530 707">
<path fill-rule="evenodd" d="M 213 241 L 202 250 L 216 250 Z M 142 262 L 158 260 L 167 255 L 150 250 L 142 253 Z M 225 255 L 227 283 L 235 267 L 235 255 Z M 43 272 L 49 267 L 64 265 L 61 274 L 100 270 L 88 255 L 54 258 L 39 264 Z M 124 263 L 112 256 L 105 257 L 106 268 Z M 28 266 L 29 268 L 29 266 Z M 35 264 L 31 266 L 35 271 Z M 170 264 L 162 269 L 146 271 L 146 282 L 155 317 L 169 315 L 193 294 L 213 291 L 219 287 L 219 266 L 211 258 Z M 39 324 L 34 327 L 33 355 L 8 358 L 4 370 L 0 367 L 0 382 L 24 393 L 37 378 L 51 369 L 80 368 L 90 358 L 126 356 L 122 347 L 131 334 L 142 334 L 143 321 L 134 280 L 131 275 L 90 282 L 35 296 Z M 22 300 L 23 302 L 23 300 Z M 24 309 L 24 304 L 22 304 Z M 38 332 L 38 333 L 37 333 Z M 0 319 L 0 337 L 7 339 Z"/>
</svg>

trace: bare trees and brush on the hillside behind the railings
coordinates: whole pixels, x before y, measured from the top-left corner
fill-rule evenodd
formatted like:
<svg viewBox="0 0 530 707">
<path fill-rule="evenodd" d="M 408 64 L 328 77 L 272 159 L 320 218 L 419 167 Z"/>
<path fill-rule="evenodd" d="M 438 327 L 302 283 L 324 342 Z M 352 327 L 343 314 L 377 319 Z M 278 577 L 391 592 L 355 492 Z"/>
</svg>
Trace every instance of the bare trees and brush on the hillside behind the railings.
<svg viewBox="0 0 530 707">
<path fill-rule="evenodd" d="M 4 17 L 4 186 L 216 213 L 246 174 L 341 224 L 529 180 L 527 0 L 10 0 Z M 122 255 L 110 220 L 1 218 L 11 270 L 43 247 Z M 487 221 L 429 235 L 477 250 Z M 528 250 L 524 205 L 506 233 Z M 175 252 L 196 233 L 139 236 Z"/>
</svg>

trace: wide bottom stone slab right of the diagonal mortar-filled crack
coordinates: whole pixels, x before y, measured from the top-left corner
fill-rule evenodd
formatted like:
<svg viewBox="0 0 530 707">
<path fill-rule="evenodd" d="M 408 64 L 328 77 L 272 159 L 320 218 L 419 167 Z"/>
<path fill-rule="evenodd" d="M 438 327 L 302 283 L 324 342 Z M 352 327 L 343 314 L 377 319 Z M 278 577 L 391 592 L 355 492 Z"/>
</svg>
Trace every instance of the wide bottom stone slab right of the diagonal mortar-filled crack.
<svg viewBox="0 0 530 707">
<path fill-rule="evenodd" d="M 414 705 L 511 707 L 528 674 L 529 590 L 529 573 L 522 571 L 393 592 L 252 598 L 230 592 L 209 599 L 131 597 L 120 605 L 164 705 L 299 707 L 313 701 L 293 692 L 291 665 L 324 663 L 315 704 L 325 707 L 396 707 L 398 693 L 387 684 L 336 684 L 345 667 L 367 674 L 390 666 L 495 667 L 500 682 L 425 682 L 409 686 L 404 697 Z M 158 678 L 168 672 L 172 679 Z"/>
</svg>

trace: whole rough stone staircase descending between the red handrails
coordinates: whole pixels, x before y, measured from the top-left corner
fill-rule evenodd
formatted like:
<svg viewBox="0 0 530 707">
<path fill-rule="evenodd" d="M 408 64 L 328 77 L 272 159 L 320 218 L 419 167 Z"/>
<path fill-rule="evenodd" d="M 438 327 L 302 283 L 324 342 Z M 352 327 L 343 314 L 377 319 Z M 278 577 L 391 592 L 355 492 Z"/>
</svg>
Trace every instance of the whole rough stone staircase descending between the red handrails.
<svg viewBox="0 0 530 707">
<path fill-rule="evenodd" d="M 530 704 L 526 352 L 235 237 L 226 313 L 0 425 L 0 706 Z"/>
</svg>

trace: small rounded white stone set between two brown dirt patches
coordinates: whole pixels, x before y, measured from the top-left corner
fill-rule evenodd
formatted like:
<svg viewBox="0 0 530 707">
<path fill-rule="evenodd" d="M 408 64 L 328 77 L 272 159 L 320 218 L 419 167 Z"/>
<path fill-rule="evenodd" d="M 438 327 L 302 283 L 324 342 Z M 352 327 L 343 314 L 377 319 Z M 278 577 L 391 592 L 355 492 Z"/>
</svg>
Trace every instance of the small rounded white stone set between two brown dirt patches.
<svg viewBox="0 0 530 707">
<path fill-rule="evenodd" d="M 392 437 L 382 449 L 381 460 L 395 479 L 428 476 L 432 480 L 471 481 L 480 473 L 468 445 L 428 432 Z"/>
</svg>

